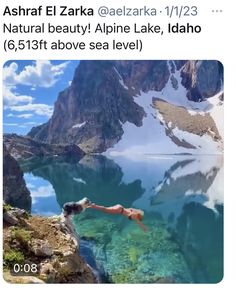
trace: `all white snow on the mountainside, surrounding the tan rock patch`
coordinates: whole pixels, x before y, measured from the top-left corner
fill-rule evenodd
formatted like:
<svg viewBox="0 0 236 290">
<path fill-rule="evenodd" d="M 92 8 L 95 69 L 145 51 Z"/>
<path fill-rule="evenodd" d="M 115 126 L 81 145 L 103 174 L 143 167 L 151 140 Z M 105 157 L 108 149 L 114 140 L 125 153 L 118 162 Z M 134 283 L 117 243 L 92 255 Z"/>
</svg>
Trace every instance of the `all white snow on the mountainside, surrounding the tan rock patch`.
<svg viewBox="0 0 236 290">
<path fill-rule="evenodd" d="M 185 148 L 176 145 L 171 136 L 167 136 L 166 130 L 170 128 L 169 124 L 165 124 L 165 120 L 153 106 L 153 99 L 162 99 L 170 104 L 184 107 L 191 115 L 209 113 L 215 121 L 220 136 L 223 138 L 223 103 L 220 101 L 219 92 L 212 98 L 202 102 L 189 101 L 187 98 L 187 90 L 181 84 L 181 72 L 176 68 L 174 73 L 171 73 L 170 63 L 170 78 L 161 92 L 150 90 L 148 92 L 140 92 L 140 95 L 134 96 L 134 102 L 141 106 L 146 116 L 143 118 L 142 126 L 126 122 L 122 125 L 124 134 L 121 140 L 114 145 L 113 148 L 108 149 L 105 155 L 138 155 L 138 154 L 212 154 L 221 153 L 223 150 L 222 144 L 214 141 L 212 136 L 205 134 L 199 136 L 191 132 L 180 130 L 179 128 L 172 129 L 171 134 L 177 137 L 180 142 L 189 143 L 193 148 Z M 114 68 L 115 69 L 115 68 Z M 116 69 L 115 69 L 116 70 Z M 116 70 L 117 71 L 117 70 Z M 117 74 L 122 80 L 119 72 Z M 123 80 L 122 80 L 123 81 Z M 181 116 L 180 116 L 181 118 Z M 161 122 L 161 123 L 160 123 Z M 171 122 L 169 122 L 171 123 Z M 209 132 L 210 132 L 209 128 Z M 211 132 L 212 133 L 212 132 Z M 213 135 L 213 134 L 211 134 Z"/>
</svg>

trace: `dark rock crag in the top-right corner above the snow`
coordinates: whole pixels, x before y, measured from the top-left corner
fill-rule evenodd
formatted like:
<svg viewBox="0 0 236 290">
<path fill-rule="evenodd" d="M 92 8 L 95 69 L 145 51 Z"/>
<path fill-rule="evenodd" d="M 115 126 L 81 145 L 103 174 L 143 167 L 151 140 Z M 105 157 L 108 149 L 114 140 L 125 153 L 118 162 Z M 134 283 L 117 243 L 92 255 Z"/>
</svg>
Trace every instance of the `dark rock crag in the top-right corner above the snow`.
<svg viewBox="0 0 236 290">
<path fill-rule="evenodd" d="M 223 66 L 218 61 L 188 61 L 181 70 L 182 84 L 192 101 L 209 98 L 218 93 L 223 83 Z"/>
</svg>

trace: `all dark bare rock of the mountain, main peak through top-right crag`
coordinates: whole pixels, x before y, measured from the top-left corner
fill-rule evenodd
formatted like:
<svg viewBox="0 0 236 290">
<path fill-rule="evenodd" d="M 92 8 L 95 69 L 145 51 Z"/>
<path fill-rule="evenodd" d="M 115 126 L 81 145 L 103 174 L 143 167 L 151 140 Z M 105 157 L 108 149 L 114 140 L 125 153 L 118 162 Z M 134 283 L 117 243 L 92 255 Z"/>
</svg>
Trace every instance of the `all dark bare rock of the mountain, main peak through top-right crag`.
<svg viewBox="0 0 236 290">
<path fill-rule="evenodd" d="M 186 89 L 178 97 L 199 102 L 222 89 L 223 67 L 218 61 L 81 61 L 51 119 L 28 135 L 50 144 L 77 144 L 86 153 L 104 152 L 122 139 L 124 124 L 143 125 L 147 112 L 136 97 L 161 93 L 169 80 L 175 90 Z"/>
</svg>

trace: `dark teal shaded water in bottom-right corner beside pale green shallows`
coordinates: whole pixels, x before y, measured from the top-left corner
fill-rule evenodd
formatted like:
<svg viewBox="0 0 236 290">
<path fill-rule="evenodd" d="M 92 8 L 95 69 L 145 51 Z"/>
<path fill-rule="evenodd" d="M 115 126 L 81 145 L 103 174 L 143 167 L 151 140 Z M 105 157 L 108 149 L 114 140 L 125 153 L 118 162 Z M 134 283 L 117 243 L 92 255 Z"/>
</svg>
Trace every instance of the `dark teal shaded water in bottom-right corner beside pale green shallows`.
<svg viewBox="0 0 236 290">
<path fill-rule="evenodd" d="M 223 205 L 215 212 L 198 203 L 184 207 L 174 232 L 195 283 L 223 278 Z"/>
</svg>

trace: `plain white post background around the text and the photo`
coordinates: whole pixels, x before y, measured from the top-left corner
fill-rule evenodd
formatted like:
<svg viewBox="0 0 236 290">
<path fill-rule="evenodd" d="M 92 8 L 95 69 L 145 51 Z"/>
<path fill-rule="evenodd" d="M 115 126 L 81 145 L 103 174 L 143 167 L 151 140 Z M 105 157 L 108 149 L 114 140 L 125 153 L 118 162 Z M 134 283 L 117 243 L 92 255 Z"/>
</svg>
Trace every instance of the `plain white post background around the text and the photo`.
<svg viewBox="0 0 236 290">
<path fill-rule="evenodd" d="M 142 40 L 144 44 L 144 49 L 141 53 L 137 51 L 63 51 L 63 52 L 49 52 L 49 51 L 20 51 L 17 53 L 5 53 L 3 51 L 3 40 L 6 38 L 2 33 L 2 23 L 8 22 L 9 18 L 5 18 L 2 16 L 3 7 L 5 5 L 9 6 L 18 6 L 22 5 L 25 7 L 37 7 L 39 5 L 68 5 L 79 7 L 80 5 L 84 5 L 85 7 L 93 7 L 96 10 L 96 7 L 100 5 L 106 5 L 109 7 L 122 7 L 126 5 L 127 7 L 143 7 L 144 5 L 156 8 L 163 8 L 166 5 L 196 5 L 198 6 L 199 15 L 196 17 L 192 17 L 191 19 L 172 19 L 171 22 L 179 22 L 186 23 L 189 22 L 191 24 L 198 24 L 202 27 L 202 32 L 200 34 L 193 35 L 168 35 L 165 34 L 163 36 L 159 35 L 142 35 Z M 14 0 L 14 1 L 6 1 L 1 0 L 1 69 L 0 69 L 0 79 L 2 79 L 2 66 L 5 61 L 11 59 L 54 59 L 54 60 L 65 60 L 65 59 L 217 59 L 221 61 L 224 65 L 224 75 L 225 75 L 225 245 L 224 245 L 224 253 L 225 253 L 225 270 L 224 270 L 224 278 L 218 284 L 213 285 L 46 285 L 45 287 L 56 289 L 58 288 L 128 288 L 132 287 L 135 289 L 162 289 L 162 288 L 214 288 L 214 289 L 222 289 L 223 287 L 233 287 L 235 285 L 235 110 L 236 110 L 236 95 L 235 95 L 235 29 L 236 29 L 236 8 L 233 5 L 233 1 L 219 1 L 219 0 L 116 0 L 116 1 L 105 1 L 105 0 L 57 0 L 57 1 L 45 1 L 45 0 Z M 235 8 L 235 9 L 234 9 Z M 222 9 L 222 13 L 212 13 L 213 9 Z M 41 22 L 48 22 L 51 19 L 45 16 L 42 17 L 11 17 L 11 22 L 14 24 L 22 23 L 22 24 L 39 24 Z M 113 18 L 100 18 L 100 17 L 60 17 L 53 18 L 51 20 L 54 24 L 87 24 L 97 23 L 97 22 L 106 22 L 108 23 L 119 23 L 119 24 L 129 24 L 132 22 L 136 22 L 138 24 L 145 24 L 150 22 L 156 25 L 166 25 L 166 23 L 170 22 L 170 19 L 167 17 L 113 17 Z M 11 38 L 21 39 L 22 35 L 11 35 Z M 60 35 L 44 35 L 43 38 L 46 40 L 52 40 L 52 38 L 58 39 Z M 119 35 L 119 36 L 104 36 L 92 35 L 88 34 L 86 36 L 86 41 L 106 41 L 108 38 L 119 39 L 120 41 L 129 41 L 131 39 L 140 38 L 140 36 L 131 36 L 127 35 Z M 31 35 L 31 39 L 38 38 L 41 39 L 42 35 Z M 83 41 L 84 37 L 80 35 L 68 35 L 63 36 L 64 40 L 73 40 L 73 41 Z M 78 40 L 77 40 L 78 39 Z M 1 91 L 2 91 L 2 83 Z M 2 106 L 2 102 L 1 102 Z M 0 108 L 0 112 L 2 114 L 2 107 Z M 2 120 L 2 116 L 1 116 Z M 0 136 L 2 138 L 2 126 Z M 2 142 L 1 142 L 2 146 Z M 2 157 L 2 156 L 1 156 Z M 2 162 L 1 162 L 2 163 Z M 2 168 L 1 175 L 2 176 Z M 2 185 L 1 185 L 2 186 Z M 2 199 L 1 199 L 2 200 Z M 2 220 L 2 219 L 1 219 Z M 1 247 L 2 250 L 2 247 Z M 2 268 L 2 263 L 0 263 L 0 267 Z M 2 279 L 1 275 L 1 283 L 4 289 L 13 289 L 19 287 L 25 287 L 27 289 L 32 289 L 32 285 L 11 285 L 7 284 Z M 44 288 L 43 285 L 34 285 L 36 288 Z"/>
</svg>

